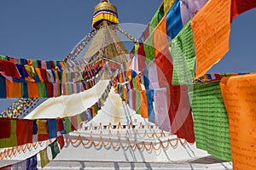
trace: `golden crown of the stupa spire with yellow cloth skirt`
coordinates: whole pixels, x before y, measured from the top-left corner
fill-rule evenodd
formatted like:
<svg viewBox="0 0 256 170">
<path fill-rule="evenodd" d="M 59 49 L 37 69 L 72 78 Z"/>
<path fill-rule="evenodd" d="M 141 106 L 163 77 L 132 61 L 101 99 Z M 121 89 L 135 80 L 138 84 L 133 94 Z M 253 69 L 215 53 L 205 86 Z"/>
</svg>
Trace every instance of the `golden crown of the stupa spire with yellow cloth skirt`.
<svg viewBox="0 0 256 170">
<path fill-rule="evenodd" d="M 92 27 L 96 27 L 102 20 L 108 20 L 113 24 L 119 23 L 117 8 L 109 3 L 109 0 L 101 0 L 101 3 L 95 6 L 93 14 Z"/>
</svg>

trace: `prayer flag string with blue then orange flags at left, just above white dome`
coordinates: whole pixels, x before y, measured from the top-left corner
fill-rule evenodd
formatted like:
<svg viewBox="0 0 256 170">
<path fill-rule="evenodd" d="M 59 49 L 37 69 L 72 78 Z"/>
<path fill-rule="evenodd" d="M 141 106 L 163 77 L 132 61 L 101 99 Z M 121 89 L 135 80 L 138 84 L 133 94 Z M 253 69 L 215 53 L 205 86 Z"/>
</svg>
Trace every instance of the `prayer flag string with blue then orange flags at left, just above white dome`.
<svg viewBox="0 0 256 170">
<path fill-rule="evenodd" d="M 51 72 L 51 71 L 50 71 Z M 100 81 L 104 69 L 97 72 L 96 77 L 92 77 L 84 82 L 14 82 L 10 77 L 0 75 L 1 98 L 49 98 L 62 95 L 80 93 L 90 89 Z M 123 76 L 122 76 L 123 77 Z"/>
</svg>

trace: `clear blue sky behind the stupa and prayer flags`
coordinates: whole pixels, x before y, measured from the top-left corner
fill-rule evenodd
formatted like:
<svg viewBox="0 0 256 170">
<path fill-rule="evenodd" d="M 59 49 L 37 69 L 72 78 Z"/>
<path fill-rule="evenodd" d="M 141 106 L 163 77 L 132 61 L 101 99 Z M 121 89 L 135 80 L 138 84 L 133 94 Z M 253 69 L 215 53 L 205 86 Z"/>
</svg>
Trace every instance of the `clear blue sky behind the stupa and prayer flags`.
<svg viewBox="0 0 256 170">
<path fill-rule="evenodd" d="M 119 10 L 121 23 L 143 25 L 148 24 L 161 2 L 111 0 Z M 0 54 L 63 59 L 91 30 L 93 8 L 97 3 L 99 0 L 1 0 Z M 210 72 L 256 71 L 255 19 L 253 9 L 233 21 L 230 52 Z"/>
</svg>

